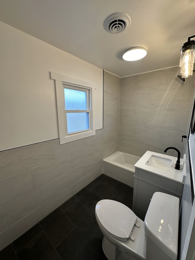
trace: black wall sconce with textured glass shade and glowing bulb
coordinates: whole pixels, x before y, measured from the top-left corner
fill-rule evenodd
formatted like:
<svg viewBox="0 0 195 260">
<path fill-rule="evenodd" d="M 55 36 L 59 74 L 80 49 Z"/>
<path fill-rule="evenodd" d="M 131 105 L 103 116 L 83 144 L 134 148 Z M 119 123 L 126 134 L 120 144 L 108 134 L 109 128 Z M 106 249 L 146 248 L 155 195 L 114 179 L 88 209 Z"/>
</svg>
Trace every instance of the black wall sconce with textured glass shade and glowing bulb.
<svg viewBox="0 0 195 260">
<path fill-rule="evenodd" d="M 195 58 L 195 41 L 191 40 L 193 38 L 195 38 L 195 35 L 188 37 L 188 41 L 181 48 L 179 67 L 181 67 L 182 78 L 191 77 L 193 73 Z"/>
</svg>

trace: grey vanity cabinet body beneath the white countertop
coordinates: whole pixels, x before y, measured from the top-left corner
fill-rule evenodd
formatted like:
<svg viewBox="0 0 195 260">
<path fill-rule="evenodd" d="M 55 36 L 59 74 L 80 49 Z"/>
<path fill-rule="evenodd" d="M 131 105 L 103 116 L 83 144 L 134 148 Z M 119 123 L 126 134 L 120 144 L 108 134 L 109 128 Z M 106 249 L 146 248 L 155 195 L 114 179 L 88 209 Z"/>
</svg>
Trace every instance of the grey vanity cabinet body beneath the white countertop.
<svg viewBox="0 0 195 260">
<path fill-rule="evenodd" d="M 144 220 L 152 195 L 156 191 L 168 193 L 181 199 L 183 183 L 136 168 L 132 209 L 140 219 Z"/>
</svg>

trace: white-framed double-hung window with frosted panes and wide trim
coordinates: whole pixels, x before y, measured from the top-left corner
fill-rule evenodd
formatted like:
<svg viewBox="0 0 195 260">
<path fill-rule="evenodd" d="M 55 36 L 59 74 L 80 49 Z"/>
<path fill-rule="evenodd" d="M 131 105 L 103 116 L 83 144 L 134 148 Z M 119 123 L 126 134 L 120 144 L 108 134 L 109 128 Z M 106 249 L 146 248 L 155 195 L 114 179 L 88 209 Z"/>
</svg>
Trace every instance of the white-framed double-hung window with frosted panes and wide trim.
<svg viewBox="0 0 195 260">
<path fill-rule="evenodd" d="M 53 72 L 51 78 L 55 79 L 60 144 L 95 135 L 94 84 Z"/>
</svg>

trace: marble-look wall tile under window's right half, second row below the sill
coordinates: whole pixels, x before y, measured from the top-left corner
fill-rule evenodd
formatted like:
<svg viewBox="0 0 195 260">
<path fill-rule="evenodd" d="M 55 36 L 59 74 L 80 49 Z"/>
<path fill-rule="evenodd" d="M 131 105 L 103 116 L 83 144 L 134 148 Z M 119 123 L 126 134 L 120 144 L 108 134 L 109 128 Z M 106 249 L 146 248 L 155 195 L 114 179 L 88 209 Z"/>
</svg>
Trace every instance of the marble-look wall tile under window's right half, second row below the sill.
<svg viewBox="0 0 195 260">
<path fill-rule="evenodd" d="M 94 145 L 71 153 L 72 169 L 94 158 Z"/>
</svg>

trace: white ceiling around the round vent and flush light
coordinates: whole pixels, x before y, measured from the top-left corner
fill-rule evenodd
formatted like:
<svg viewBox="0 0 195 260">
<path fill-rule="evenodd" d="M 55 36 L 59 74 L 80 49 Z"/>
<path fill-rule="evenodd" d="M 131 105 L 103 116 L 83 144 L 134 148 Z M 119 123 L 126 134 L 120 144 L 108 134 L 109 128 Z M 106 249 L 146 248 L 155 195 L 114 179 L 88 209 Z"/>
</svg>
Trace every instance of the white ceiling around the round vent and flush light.
<svg viewBox="0 0 195 260">
<path fill-rule="evenodd" d="M 104 20 L 131 17 L 127 30 L 110 34 Z M 194 0 L 1 0 L 0 20 L 119 77 L 179 65 L 180 48 L 195 34 Z M 144 46 L 147 55 L 124 61 Z"/>
</svg>

